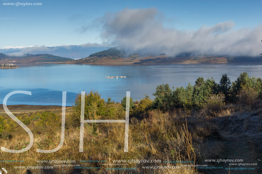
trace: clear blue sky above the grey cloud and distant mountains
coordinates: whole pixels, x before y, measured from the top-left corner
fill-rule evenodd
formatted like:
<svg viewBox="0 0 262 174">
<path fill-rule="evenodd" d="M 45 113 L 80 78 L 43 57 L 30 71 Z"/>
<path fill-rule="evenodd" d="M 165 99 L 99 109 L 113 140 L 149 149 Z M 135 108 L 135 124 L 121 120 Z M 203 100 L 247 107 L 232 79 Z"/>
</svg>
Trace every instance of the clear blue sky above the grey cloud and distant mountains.
<svg viewBox="0 0 262 174">
<path fill-rule="evenodd" d="M 42 3 L 7 6 L 3 3 Z M 0 48 L 5 46 L 58 46 L 102 43 L 98 28 L 81 28 L 107 12 L 155 7 L 163 25 L 176 30 L 197 30 L 232 20 L 234 29 L 262 24 L 262 1 L 43 1 L 0 0 Z M 261 39 L 262 36 L 257 36 Z"/>
</svg>

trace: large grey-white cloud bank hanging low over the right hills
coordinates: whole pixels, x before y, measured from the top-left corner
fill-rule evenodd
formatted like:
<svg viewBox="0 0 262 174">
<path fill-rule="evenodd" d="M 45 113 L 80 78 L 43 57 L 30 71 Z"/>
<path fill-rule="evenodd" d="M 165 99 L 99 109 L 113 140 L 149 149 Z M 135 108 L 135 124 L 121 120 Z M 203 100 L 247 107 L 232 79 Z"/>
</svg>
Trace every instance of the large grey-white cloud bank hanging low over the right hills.
<svg viewBox="0 0 262 174">
<path fill-rule="evenodd" d="M 97 19 L 104 45 L 123 46 L 175 56 L 181 52 L 208 55 L 259 56 L 262 25 L 234 29 L 233 21 L 201 26 L 197 30 L 165 27 L 165 16 L 155 8 L 123 9 Z M 87 27 L 88 28 L 88 27 Z"/>
</svg>

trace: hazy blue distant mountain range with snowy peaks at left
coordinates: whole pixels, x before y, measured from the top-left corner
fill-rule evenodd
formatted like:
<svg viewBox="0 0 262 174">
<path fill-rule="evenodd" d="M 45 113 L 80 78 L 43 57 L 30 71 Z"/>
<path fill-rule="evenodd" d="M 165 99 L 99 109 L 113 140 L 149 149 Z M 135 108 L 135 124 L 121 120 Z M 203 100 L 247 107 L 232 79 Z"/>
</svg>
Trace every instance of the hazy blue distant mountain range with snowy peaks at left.
<svg viewBox="0 0 262 174">
<path fill-rule="evenodd" d="M 62 45 L 62 46 L 7 46 L 0 49 L 0 53 L 9 56 L 25 56 L 26 54 L 52 54 L 54 56 L 66 57 L 72 59 L 85 58 L 95 52 L 107 50 L 111 47 L 100 44 L 82 44 L 82 45 Z"/>
</svg>

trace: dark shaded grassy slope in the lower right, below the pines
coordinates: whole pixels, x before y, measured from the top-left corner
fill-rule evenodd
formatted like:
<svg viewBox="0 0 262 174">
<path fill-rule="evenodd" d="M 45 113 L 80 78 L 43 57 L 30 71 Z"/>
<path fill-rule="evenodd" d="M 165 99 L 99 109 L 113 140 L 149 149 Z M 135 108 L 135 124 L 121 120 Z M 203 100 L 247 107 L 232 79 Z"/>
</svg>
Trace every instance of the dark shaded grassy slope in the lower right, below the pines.
<svg viewBox="0 0 262 174">
<path fill-rule="evenodd" d="M 260 173 L 262 163 L 257 159 L 262 158 L 262 109 L 238 108 L 229 105 L 226 110 L 211 118 L 219 134 L 218 139 L 207 139 L 204 144 L 197 145 L 198 148 L 207 148 L 205 159 L 243 159 L 243 162 L 230 163 L 257 163 L 257 165 L 229 165 L 229 163 L 209 163 L 209 165 L 220 167 L 255 167 L 256 170 L 210 170 L 204 173 L 245 174 Z M 203 151 L 204 152 L 204 151 Z M 213 157 L 212 157 L 213 156 Z M 216 156 L 216 157 L 215 157 Z M 202 170 L 200 170 L 202 171 Z"/>
</svg>

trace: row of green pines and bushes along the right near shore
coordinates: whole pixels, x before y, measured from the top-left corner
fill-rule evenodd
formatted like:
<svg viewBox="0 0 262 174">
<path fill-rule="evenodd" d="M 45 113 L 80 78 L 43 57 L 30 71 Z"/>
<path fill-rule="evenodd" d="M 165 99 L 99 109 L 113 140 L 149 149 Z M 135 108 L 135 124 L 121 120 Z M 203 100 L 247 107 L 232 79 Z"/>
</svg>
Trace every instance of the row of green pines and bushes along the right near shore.
<svg viewBox="0 0 262 174">
<path fill-rule="evenodd" d="M 200 110 L 207 106 L 220 108 L 227 103 L 254 106 L 262 97 L 262 81 L 260 77 L 250 77 L 247 72 L 241 73 L 233 82 L 227 74 L 222 75 L 219 83 L 216 83 L 213 77 L 206 80 L 203 77 L 198 77 L 194 85 L 189 83 L 186 87 L 171 89 L 169 84 L 158 85 L 153 95 L 155 96 L 154 100 L 149 99 L 147 95 L 141 100 L 148 104 L 143 106 L 144 109 Z M 125 107 L 125 98 L 121 103 Z M 135 108 L 133 103 L 131 103 L 131 109 Z"/>
</svg>

